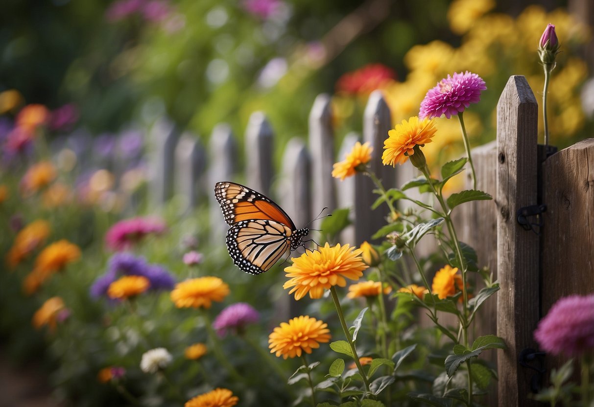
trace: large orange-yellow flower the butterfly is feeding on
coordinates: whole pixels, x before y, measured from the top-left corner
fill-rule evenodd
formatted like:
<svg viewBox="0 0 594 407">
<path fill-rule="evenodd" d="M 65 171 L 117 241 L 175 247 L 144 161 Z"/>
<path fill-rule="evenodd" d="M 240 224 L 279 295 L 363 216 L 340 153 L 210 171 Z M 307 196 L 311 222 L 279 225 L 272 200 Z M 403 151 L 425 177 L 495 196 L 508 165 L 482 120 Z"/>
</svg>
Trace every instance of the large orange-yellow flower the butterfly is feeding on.
<svg viewBox="0 0 594 407">
<path fill-rule="evenodd" d="M 348 244 L 330 247 L 328 243 L 313 252 L 305 250 L 303 255 L 291 259 L 293 265 L 285 268 L 290 279 L 283 288 L 293 287 L 289 294 L 295 292 L 295 300 L 300 300 L 308 292 L 310 298 L 321 298 L 324 290 L 333 285 L 345 287 L 345 277 L 358 280 L 368 268 L 361 252 Z"/>
</svg>

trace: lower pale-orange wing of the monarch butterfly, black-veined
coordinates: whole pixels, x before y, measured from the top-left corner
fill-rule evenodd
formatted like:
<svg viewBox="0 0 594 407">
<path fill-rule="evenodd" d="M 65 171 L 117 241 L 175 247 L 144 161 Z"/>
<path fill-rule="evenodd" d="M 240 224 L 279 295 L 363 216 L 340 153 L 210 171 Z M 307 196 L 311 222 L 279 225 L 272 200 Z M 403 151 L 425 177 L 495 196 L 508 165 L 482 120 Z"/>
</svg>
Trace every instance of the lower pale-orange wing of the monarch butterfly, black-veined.
<svg viewBox="0 0 594 407">
<path fill-rule="evenodd" d="M 268 271 L 290 249 L 292 230 L 270 220 L 239 221 L 227 233 L 233 263 L 249 274 Z"/>
</svg>

